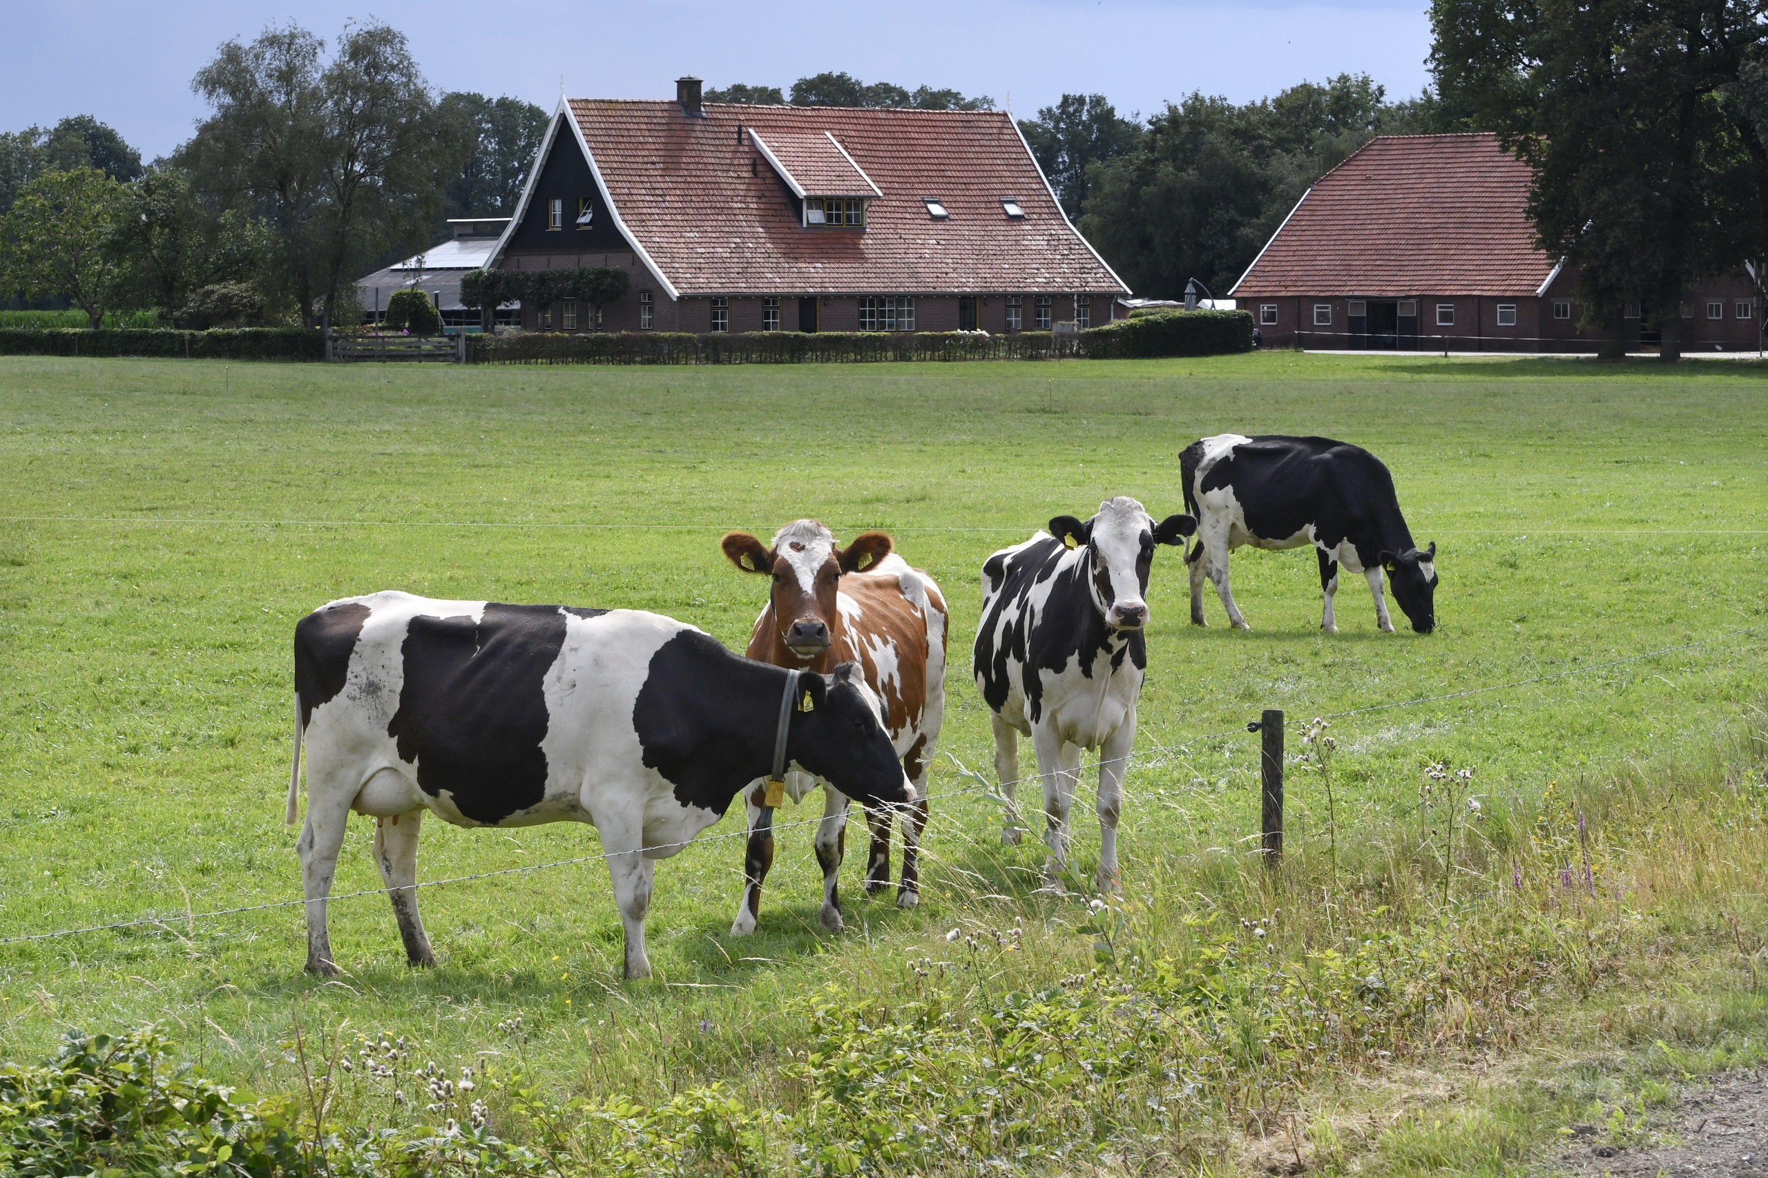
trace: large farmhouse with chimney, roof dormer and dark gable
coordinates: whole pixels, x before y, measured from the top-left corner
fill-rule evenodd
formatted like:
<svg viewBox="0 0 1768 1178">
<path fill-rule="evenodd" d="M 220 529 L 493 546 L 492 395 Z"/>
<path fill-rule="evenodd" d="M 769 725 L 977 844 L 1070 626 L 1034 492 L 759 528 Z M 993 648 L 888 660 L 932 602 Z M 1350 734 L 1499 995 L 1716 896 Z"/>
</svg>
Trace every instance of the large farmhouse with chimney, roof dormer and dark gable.
<svg viewBox="0 0 1768 1178">
<path fill-rule="evenodd" d="M 619 267 L 552 331 L 1036 331 L 1130 294 L 1004 111 L 560 101 L 497 269 Z"/>
</svg>

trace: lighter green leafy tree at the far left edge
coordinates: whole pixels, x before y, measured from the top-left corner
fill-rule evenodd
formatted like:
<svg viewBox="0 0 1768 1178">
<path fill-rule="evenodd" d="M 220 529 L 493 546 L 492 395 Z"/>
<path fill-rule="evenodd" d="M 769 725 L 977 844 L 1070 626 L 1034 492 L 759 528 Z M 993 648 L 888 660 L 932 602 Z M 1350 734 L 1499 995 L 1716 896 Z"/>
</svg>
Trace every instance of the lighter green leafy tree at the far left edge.
<svg viewBox="0 0 1768 1178">
<path fill-rule="evenodd" d="M 126 200 L 124 186 L 97 168 L 48 172 L 27 184 L 0 221 L 7 285 L 27 299 L 65 297 L 95 331 L 122 287 L 113 235 Z"/>
</svg>

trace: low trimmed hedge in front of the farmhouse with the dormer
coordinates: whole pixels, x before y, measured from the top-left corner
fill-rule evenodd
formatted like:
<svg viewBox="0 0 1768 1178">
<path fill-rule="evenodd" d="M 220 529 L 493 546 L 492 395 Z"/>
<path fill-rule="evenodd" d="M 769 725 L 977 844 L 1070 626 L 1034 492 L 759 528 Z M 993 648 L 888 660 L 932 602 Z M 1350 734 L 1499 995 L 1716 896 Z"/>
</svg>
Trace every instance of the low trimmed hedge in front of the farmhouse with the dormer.
<svg viewBox="0 0 1768 1178">
<path fill-rule="evenodd" d="M 1245 311 L 1172 311 L 1093 327 L 1073 336 L 1024 331 L 859 333 L 513 333 L 467 336 L 474 364 L 797 364 L 866 361 L 1121 359 L 1216 356 L 1252 350 Z"/>
</svg>

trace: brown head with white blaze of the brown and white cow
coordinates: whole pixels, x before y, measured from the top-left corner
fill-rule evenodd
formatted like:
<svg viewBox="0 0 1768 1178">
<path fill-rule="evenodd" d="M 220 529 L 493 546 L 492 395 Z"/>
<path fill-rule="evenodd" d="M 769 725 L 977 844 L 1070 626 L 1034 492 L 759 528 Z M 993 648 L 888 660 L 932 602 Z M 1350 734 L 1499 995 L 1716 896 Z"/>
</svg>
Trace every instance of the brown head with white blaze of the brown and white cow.
<svg viewBox="0 0 1768 1178">
<path fill-rule="evenodd" d="M 834 642 L 840 612 L 834 591 L 842 573 L 859 573 L 889 555 L 884 532 L 861 532 L 845 548 L 834 547 L 834 534 L 817 520 L 787 524 L 773 547 L 748 532 L 727 532 L 725 555 L 744 573 L 773 577 L 771 603 L 780 640 L 799 660 L 812 662 Z"/>
</svg>

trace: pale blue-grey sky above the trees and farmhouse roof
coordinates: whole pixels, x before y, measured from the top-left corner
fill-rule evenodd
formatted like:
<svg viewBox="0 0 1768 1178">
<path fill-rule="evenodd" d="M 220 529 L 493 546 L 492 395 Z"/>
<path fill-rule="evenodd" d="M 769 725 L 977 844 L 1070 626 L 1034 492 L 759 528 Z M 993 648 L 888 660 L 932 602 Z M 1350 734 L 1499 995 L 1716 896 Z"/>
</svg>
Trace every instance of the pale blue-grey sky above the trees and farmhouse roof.
<svg viewBox="0 0 1768 1178">
<path fill-rule="evenodd" d="M 1064 92 L 1123 115 L 1193 90 L 1236 103 L 1298 81 L 1368 73 L 1390 97 L 1425 81 L 1423 0 L 14 0 L 0 44 L 0 131 L 95 115 L 143 157 L 203 115 L 191 78 L 216 46 L 299 21 L 332 39 L 384 18 L 438 90 L 511 94 L 552 111 L 573 97 L 674 97 L 681 74 L 790 88 L 826 69 L 861 81 L 988 94 L 1034 117 Z M 421 16 L 419 16 L 421 14 Z"/>
</svg>

